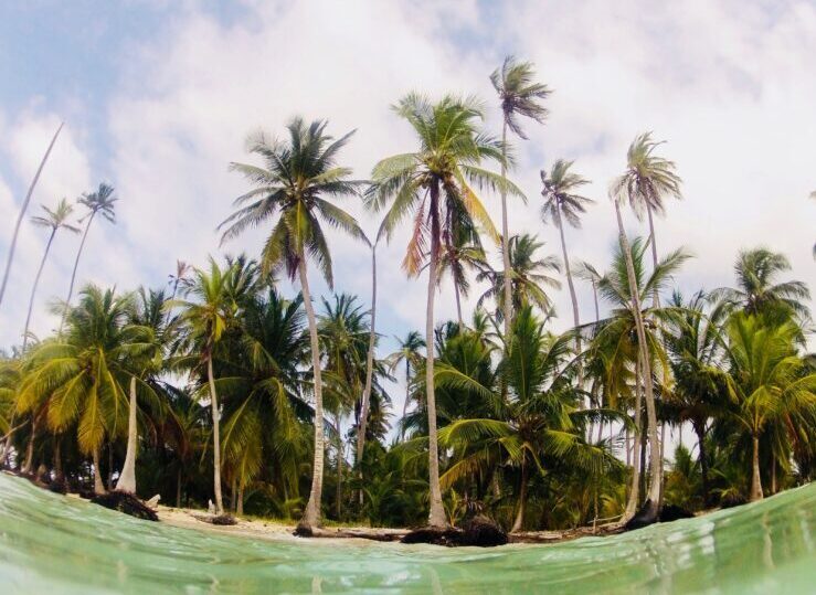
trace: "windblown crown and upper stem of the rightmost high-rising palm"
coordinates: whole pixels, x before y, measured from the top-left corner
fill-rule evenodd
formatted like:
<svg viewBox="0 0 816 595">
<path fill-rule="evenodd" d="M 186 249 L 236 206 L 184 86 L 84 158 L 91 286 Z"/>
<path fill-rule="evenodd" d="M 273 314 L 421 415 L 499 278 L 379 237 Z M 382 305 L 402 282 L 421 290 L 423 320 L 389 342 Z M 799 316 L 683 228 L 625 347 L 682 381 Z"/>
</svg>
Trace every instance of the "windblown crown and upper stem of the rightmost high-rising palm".
<svg viewBox="0 0 816 595">
<path fill-rule="evenodd" d="M 657 266 L 657 241 L 653 213 L 666 212 L 666 198 L 680 199 L 680 177 L 675 162 L 654 155 L 665 141 L 651 140 L 651 132 L 635 137 L 626 152 L 626 172 L 616 178 L 612 193 L 618 200 L 627 200 L 638 219 L 644 212 L 649 220 L 649 243 L 653 264 Z M 654 297 L 657 300 L 657 296 Z M 657 305 L 655 305 L 657 306 Z"/>
</svg>

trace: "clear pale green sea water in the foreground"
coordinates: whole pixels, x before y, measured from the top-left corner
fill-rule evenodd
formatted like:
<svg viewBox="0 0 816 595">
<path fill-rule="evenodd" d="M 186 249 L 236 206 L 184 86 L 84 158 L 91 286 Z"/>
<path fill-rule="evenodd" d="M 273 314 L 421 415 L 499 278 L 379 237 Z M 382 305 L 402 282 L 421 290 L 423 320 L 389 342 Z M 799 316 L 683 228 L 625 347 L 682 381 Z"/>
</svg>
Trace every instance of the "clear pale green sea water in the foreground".
<svg viewBox="0 0 816 595">
<path fill-rule="evenodd" d="M 492 550 L 257 541 L 0 474 L 0 593 L 816 593 L 816 485 L 611 538 Z"/>
</svg>

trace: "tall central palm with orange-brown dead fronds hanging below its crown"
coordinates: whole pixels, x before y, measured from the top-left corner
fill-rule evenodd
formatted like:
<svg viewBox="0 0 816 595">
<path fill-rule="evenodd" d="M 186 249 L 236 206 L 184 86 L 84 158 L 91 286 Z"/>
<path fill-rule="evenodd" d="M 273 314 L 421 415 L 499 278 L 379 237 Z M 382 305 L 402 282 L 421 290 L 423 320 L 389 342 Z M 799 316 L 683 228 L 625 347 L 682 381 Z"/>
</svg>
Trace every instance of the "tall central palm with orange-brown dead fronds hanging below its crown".
<svg viewBox="0 0 816 595">
<path fill-rule="evenodd" d="M 471 183 L 483 188 L 521 192 L 502 177 L 479 167 L 485 160 L 505 163 L 499 141 L 480 134 L 477 123 L 481 107 L 474 99 L 446 96 L 436 104 L 411 94 L 394 107 L 406 119 L 420 140 L 415 152 L 396 155 L 380 161 L 372 171 L 367 192 L 368 205 L 374 211 L 388 208 L 379 236 L 391 238 L 393 231 L 413 213 L 413 233 L 403 261 L 410 276 L 418 275 L 427 263 L 428 286 L 425 312 L 427 343 L 428 475 L 431 511 L 428 524 L 446 525 L 439 488 L 439 460 L 434 397 L 434 298 L 438 280 L 437 266 L 444 251 L 444 238 L 451 237 L 452 216 L 465 217 L 468 226 L 476 223 L 495 236 L 492 222 Z M 443 229 L 443 225 L 445 229 Z"/>
</svg>

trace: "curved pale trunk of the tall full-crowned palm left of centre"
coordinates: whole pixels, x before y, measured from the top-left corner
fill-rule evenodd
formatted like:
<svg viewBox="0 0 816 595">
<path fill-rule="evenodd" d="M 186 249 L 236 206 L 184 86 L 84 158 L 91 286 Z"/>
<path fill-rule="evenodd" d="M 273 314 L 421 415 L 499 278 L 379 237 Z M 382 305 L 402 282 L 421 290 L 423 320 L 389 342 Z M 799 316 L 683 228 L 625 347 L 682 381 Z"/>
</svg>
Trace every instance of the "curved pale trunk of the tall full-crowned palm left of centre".
<svg viewBox="0 0 816 595">
<path fill-rule="evenodd" d="M 304 306 L 306 317 L 309 321 L 309 341 L 311 344 L 311 365 L 315 375 L 315 460 L 311 469 L 311 491 L 306 504 L 304 518 L 298 523 L 298 530 L 309 532 L 320 527 L 320 501 L 324 489 L 324 450 L 326 440 L 324 437 L 324 393 L 320 379 L 320 343 L 317 338 L 317 320 L 315 309 L 311 307 L 311 294 L 309 293 L 309 279 L 306 276 L 306 258 L 301 257 L 297 267 L 300 277 L 300 289 L 304 294 Z"/>
</svg>

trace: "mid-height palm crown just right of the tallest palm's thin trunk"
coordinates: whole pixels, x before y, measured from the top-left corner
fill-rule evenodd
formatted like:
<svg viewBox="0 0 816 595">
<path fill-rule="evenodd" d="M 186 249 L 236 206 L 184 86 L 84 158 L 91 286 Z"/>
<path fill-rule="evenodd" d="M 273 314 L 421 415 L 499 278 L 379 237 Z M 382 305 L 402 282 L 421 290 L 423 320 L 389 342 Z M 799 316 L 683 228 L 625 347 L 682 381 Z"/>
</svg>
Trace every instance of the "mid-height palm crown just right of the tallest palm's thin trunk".
<svg viewBox="0 0 816 595">
<path fill-rule="evenodd" d="M 552 300 L 547 295 L 544 287 L 559 289 L 561 281 L 552 277 L 550 272 L 560 273 L 561 265 L 558 258 L 548 254 L 541 258 L 537 252 L 544 246 L 534 235 L 513 235 L 508 243 L 510 249 L 510 299 L 513 309 L 521 308 L 524 304 L 537 306 L 544 312 L 552 309 Z M 496 316 L 501 319 L 505 308 L 505 275 L 504 270 L 494 270 L 488 265 L 483 266 L 476 280 L 487 280 L 490 286 L 481 295 L 477 307 L 481 307 L 488 299 L 496 301 Z"/>
</svg>

